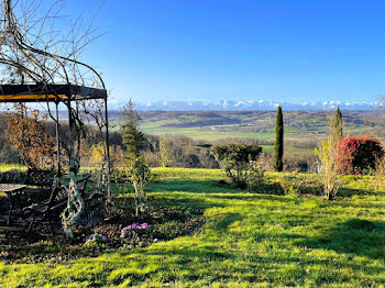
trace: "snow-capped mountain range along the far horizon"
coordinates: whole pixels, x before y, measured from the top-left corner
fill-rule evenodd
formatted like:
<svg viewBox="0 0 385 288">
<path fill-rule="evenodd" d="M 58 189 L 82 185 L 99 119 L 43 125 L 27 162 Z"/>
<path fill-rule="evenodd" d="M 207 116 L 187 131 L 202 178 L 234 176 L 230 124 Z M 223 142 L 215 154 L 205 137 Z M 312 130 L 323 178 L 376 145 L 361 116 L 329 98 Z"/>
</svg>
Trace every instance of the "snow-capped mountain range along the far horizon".
<svg viewBox="0 0 385 288">
<path fill-rule="evenodd" d="M 109 104 L 111 110 L 121 110 L 125 102 Z M 341 101 L 323 101 L 323 102 L 274 102 L 266 100 L 251 101 L 157 101 L 147 103 L 135 103 L 136 110 L 163 110 L 163 111 L 242 111 L 242 110 L 275 110 L 277 106 L 282 106 L 284 110 L 289 111 L 317 111 L 333 110 L 339 106 L 341 110 L 373 110 L 382 107 L 378 102 L 341 102 Z"/>
</svg>

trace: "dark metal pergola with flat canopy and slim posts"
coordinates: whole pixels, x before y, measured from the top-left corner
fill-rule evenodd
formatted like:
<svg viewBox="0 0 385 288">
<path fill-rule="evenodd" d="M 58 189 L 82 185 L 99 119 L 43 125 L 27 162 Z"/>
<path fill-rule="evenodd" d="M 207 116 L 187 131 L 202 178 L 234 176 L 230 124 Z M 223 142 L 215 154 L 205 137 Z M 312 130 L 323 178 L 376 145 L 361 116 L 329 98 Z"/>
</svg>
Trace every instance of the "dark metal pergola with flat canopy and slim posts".
<svg viewBox="0 0 385 288">
<path fill-rule="evenodd" d="M 47 85 L 47 84 L 33 84 L 33 85 L 0 85 L 0 103 L 22 102 L 22 103 L 46 103 L 50 106 L 54 103 L 56 106 L 56 142 L 57 142 L 57 177 L 61 175 L 61 147 L 59 147 L 59 122 L 58 122 L 58 104 L 64 103 L 68 110 L 68 124 L 69 124 L 69 188 L 68 188 L 68 206 L 66 208 L 67 217 L 64 215 L 65 228 L 70 234 L 69 225 L 73 224 L 82 210 L 84 202 L 81 196 L 76 187 L 76 175 L 78 171 L 78 162 L 75 154 L 75 142 L 77 136 L 76 120 L 74 119 L 73 104 L 77 101 L 87 100 L 102 100 L 105 104 L 105 118 L 106 118 L 106 152 L 107 152 L 107 193 L 108 199 L 111 197 L 111 184 L 110 184 L 110 152 L 109 152 L 109 131 L 108 131 L 108 109 L 107 109 L 108 95 L 105 89 L 78 86 L 78 85 Z M 67 226 L 66 226 L 67 225 Z"/>
</svg>

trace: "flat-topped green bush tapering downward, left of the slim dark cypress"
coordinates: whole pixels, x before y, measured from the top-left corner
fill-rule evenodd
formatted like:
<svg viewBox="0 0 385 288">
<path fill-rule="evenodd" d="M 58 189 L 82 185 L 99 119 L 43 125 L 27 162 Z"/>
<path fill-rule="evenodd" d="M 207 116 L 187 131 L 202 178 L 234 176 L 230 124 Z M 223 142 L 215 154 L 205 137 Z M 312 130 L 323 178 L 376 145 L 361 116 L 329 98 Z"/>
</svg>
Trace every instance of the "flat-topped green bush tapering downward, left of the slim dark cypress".
<svg viewBox="0 0 385 288">
<path fill-rule="evenodd" d="M 262 147 L 249 144 L 226 144 L 211 147 L 211 153 L 222 165 L 228 177 L 239 188 L 244 188 L 248 184 L 250 162 L 257 159 Z"/>
</svg>

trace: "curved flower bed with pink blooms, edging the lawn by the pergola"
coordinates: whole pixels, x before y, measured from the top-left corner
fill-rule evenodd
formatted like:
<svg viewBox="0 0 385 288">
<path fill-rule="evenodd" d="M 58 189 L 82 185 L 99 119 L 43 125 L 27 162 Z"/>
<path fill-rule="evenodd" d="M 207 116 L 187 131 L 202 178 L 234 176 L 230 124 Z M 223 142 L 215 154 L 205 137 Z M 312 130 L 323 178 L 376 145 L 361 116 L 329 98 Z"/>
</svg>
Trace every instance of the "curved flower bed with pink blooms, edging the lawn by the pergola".
<svg viewBox="0 0 385 288">
<path fill-rule="evenodd" d="M 152 207 L 142 219 L 122 218 L 114 223 L 78 228 L 68 242 L 57 228 L 55 237 L 47 228 L 46 236 L 7 232 L 9 242 L 0 239 L 1 261 L 14 263 L 61 263 L 85 256 L 98 256 L 111 250 L 143 247 L 193 233 L 204 223 L 202 210 L 184 207 Z M 15 241 L 18 239 L 18 241 Z"/>
</svg>

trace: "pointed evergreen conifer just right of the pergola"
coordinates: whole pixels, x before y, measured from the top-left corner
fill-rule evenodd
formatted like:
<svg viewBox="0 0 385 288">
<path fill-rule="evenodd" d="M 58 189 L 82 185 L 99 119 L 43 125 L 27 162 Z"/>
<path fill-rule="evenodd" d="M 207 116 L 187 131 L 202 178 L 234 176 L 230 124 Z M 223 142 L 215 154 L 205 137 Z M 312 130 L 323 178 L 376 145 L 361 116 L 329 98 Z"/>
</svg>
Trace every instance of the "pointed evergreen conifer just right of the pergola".
<svg viewBox="0 0 385 288">
<path fill-rule="evenodd" d="M 134 104 L 131 99 L 128 106 L 123 108 L 122 117 L 123 144 L 127 147 L 129 156 L 138 157 L 144 145 L 144 136 L 139 129 L 141 118 L 134 110 Z"/>
</svg>

